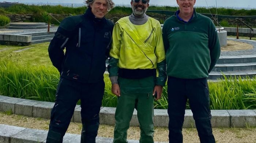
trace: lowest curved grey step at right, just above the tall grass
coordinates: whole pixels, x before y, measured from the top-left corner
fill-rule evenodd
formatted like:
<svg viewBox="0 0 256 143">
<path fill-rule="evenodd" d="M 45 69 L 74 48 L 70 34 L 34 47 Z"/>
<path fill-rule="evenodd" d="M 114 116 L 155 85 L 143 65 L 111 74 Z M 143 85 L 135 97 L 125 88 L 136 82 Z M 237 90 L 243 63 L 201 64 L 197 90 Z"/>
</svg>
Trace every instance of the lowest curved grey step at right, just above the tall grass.
<svg viewBox="0 0 256 143">
<path fill-rule="evenodd" d="M 209 74 L 208 80 L 216 80 L 216 79 L 221 79 L 224 78 L 223 74 L 226 75 L 226 77 L 249 77 L 252 78 L 256 76 L 256 70 L 247 70 L 247 71 L 224 71 L 224 72 L 219 72 L 219 71 L 211 71 Z"/>
</svg>

